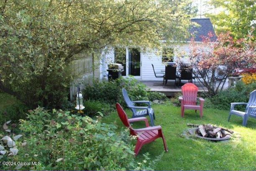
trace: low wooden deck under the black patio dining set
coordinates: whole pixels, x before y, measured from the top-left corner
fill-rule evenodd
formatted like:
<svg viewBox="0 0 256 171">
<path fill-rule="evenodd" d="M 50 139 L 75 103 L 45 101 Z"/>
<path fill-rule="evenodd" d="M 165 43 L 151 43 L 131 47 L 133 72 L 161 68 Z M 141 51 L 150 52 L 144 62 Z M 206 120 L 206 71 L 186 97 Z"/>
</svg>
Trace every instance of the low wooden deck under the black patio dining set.
<svg viewBox="0 0 256 171">
<path fill-rule="evenodd" d="M 139 81 L 143 84 L 146 84 L 146 86 L 150 88 L 151 92 L 161 92 L 164 93 L 166 96 L 174 96 L 175 93 L 181 92 L 181 86 L 174 86 L 174 81 L 168 81 L 165 87 L 162 81 Z M 182 82 L 182 84 L 185 83 L 187 82 Z M 206 87 L 200 86 L 199 82 L 196 82 L 196 85 L 199 88 L 198 92 L 207 92 Z"/>
</svg>

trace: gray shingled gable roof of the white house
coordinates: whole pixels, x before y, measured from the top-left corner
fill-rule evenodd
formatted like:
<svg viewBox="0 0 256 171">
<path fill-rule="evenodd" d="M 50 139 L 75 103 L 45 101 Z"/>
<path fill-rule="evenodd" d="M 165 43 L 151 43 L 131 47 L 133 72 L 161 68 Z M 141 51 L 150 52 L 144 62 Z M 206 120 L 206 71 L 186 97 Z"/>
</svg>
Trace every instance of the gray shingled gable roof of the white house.
<svg viewBox="0 0 256 171">
<path fill-rule="evenodd" d="M 196 42 L 202 42 L 202 36 L 208 37 L 209 32 L 212 32 L 213 34 L 211 42 L 215 42 L 217 40 L 217 36 L 215 35 L 210 18 L 194 18 L 191 19 L 191 21 L 196 22 L 198 25 L 200 25 L 199 27 L 193 26 L 189 30 Z M 191 40 L 192 37 L 190 37 L 189 40 Z"/>
</svg>

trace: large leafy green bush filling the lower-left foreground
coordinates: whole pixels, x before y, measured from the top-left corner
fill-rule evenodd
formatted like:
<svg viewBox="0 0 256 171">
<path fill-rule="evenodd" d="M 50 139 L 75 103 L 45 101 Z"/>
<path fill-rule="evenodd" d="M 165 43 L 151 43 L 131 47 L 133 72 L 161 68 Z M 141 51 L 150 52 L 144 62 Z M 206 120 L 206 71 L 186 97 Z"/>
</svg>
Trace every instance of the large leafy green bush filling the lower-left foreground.
<svg viewBox="0 0 256 171">
<path fill-rule="evenodd" d="M 22 166 L 22 170 L 150 169 L 148 155 L 142 163 L 137 163 L 134 146 L 130 140 L 123 140 L 131 137 L 119 136 L 115 129 L 113 124 L 103 124 L 88 116 L 37 108 L 30 111 L 28 120 L 21 120 L 23 136 L 15 144 L 18 154 L 9 155 L 10 149 L 6 149 L 2 160 L 41 162 L 39 166 Z M 17 169 L 15 167 L 3 166 L 2 169 Z"/>
</svg>

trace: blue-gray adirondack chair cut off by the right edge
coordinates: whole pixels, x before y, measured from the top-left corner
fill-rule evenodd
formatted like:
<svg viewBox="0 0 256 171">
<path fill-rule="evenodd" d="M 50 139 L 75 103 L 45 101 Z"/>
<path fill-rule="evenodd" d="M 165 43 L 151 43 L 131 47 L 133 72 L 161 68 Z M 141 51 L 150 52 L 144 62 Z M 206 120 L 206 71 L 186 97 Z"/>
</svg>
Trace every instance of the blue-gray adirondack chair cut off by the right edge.
<svg viewBox="0 0 256 171">
<path fill-rule="evenodd" d="M 245 112 L 241 112 L 238 110 L 235 110 L 235 106 L 238 104 L 243 104 L 246 105 L 246 110 Z M 231 103 L 231 107 L 230 107 L 230 113 L 228 116 L 228 121 L 230 120 L 230 116 L 231 115 L 236 115 L 236 116 L 240 116 L 243 118 L 243 126 L 246 126 L 247 124 L 247 120 L 249 117 L 253 117 L 256 118 L 256 90 L 254 90 L 253 92 L 251 92 L 250 94 L 250 99 L 248 103 Z"/>
</svg>

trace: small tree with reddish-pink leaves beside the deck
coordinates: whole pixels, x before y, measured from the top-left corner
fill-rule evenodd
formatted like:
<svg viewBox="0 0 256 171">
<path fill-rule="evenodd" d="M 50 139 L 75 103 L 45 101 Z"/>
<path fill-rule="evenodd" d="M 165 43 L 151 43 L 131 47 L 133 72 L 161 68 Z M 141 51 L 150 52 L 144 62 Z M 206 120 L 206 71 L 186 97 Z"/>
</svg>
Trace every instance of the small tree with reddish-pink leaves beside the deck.
<svg viewBox="0 0 256 171">
<path fill-rule="evenodd" d="M 236 69 L 256 63 L 256 44 L 251 41 L 251 34 L 237 41 L 229 33 L 220 34 L 216 42 L 211 41 L 212 37 L 212 33 L 202 37 L 202 44 L 192 40 L 189 53 L 189 66 L 195 71 L 195 79 L 207 88 L 209 96 L 221 91 Z"/>
</svg>

